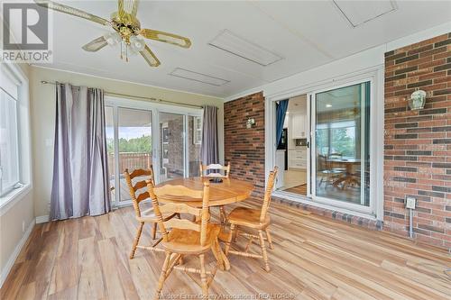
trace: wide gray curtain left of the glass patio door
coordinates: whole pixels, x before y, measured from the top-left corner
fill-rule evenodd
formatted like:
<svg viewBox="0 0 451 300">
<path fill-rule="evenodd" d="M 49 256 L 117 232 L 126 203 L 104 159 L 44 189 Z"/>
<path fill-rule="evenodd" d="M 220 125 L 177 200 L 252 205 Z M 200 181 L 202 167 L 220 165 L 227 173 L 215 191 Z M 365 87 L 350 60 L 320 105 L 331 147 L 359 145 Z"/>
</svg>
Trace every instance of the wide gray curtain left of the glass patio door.
<svg viewBox="0 0 451 300">
<path fill-rule="evenodd" d="M 51 220 L 111 210 L 106 157 L 104 92 L 56 85 Z"/>
</svg>

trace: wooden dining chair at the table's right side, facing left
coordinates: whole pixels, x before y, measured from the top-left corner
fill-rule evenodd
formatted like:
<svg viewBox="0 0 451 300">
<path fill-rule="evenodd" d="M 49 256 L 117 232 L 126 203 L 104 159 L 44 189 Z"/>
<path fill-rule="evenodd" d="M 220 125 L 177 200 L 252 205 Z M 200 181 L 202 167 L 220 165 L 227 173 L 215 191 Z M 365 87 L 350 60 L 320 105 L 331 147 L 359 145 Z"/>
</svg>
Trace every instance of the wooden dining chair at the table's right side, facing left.
<svg viewBox="0 0 451 300">
<path fill-rule="evenodd" d="M 268 253 L 266 252 L 266 246 L 264 241 L 268 241 L 270 249 L 273 249 L 271 234 L 269 230 L 271 218 L 268 214 L 268 209 L 271 204 L 272 188 L 274 186 L 274 181 L 275 177 L 277 176 L 278 169 L 279 168 L 275 167 L 274 170 L 270 172 L 270 176 L 268 178 L 268 185 L 266 186 L 266 190 L 264 192 L 263 204 L 261 209 L 236 207 L 227 217 L 227 221 L 228 223 L 230 223 L 230 232 L 228 241 L 226 242 L 226 255 L 230 253 L 241 255 L 248 258 L 263 259 L 264 269 L 267 272 L 270 271 L 270 265 L 268 262 Z M 232 240 L 234 240 L 234 237 L 237 234 L 237 231 L 239 230 L 240 227 L 245 227 L 247 229 L 257 231 L 258 235 L 247 232 L 240 233 L 240 235 L 243 235 L 245 238 L 249 239 L 245 247 L 245 250 L 244 251 L 230 250 Z M 265 232 L 266 238 L 263 237 L 263 232 Z M 249 247 L 251 246 L 253 239 L 256 239 L 260 242 L 262 254 L 249 253 Z"/>
</svg>

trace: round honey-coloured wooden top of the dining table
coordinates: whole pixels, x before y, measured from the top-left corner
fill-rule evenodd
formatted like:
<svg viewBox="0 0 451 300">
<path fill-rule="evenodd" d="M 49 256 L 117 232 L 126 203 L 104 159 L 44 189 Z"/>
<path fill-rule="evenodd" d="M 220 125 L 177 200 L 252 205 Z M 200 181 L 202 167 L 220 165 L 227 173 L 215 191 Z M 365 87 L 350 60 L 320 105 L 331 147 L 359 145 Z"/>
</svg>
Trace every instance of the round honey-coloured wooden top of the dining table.
<svg viewBox="0 0 451 300">
<path fill-rule="evenodd" d="M 189 178 L 177 178 L 162 182 L 156 187 L 160 186 L 186 186 L 192 189 L 202 190 L 204 188 L 204 181 L 209 180 L 208 177 L 189 177 Z M 244 201 L 249 198 L 253 192 L 253 184 L 237 180 L 233 178 L 221 178 L 223 182 L 213 183 L 210 182 L 210 206 L 228 205 L 235 202 Z M 189 197 L 159 197 L 158 199 L 162 203 L 187 203 L 195 207 L 201 207 L 202 201 Z"/>
</svg>

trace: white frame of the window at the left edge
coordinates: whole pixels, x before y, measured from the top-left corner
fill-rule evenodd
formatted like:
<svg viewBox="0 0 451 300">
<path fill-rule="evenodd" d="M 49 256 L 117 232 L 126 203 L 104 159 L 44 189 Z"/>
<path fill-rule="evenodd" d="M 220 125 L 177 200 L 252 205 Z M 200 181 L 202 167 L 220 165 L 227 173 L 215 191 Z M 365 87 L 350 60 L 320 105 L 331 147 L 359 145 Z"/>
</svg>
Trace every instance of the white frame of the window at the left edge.
<svg viewBox="0 0 451 300">
<path fill-rule="evenodd" d="M 0 215 L 3 215 L 32 189 L 32 149 L 29 99 L 30 85 L 28 77 L 23 72 L 23 69 L 15 63 L 2 62 L 0 68 L 0 71 L 10 72 L 20 82 L 17 99 L 17 144 L 19 149 L 19 183 L 22 185 L 0 197 Z"/>
</svg>

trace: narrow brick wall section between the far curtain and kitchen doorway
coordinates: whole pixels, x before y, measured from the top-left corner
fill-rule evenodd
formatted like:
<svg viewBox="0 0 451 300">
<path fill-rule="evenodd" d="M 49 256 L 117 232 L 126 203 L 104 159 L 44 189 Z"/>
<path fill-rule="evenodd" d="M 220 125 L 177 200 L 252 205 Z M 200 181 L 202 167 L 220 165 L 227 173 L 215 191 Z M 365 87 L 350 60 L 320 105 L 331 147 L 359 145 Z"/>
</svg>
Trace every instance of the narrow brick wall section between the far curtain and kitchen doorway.
<svg viewBox="0 0 451 300">
<path fill-rule="evenodd" d="M 255 127 L 246 128 L 247 119 Z M 264 190 L 264 98 L 262 93 L 246 95 L 224 105 L 225 159 L 230 176 L 255 184 L 253 195 Z"/>
</svg>

